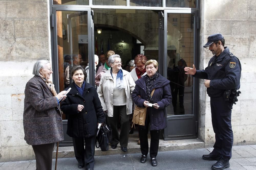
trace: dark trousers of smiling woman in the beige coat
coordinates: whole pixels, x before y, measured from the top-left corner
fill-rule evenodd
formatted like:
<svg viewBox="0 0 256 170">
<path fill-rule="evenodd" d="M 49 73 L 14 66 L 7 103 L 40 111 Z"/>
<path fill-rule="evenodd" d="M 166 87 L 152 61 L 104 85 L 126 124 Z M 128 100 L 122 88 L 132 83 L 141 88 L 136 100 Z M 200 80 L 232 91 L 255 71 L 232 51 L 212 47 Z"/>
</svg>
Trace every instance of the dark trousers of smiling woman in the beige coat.
<svg viewBox="0 0 256 170">
<path fill-rule="evenodd" d="M 129 115 L 126 114 L 126 105 L 113 106 L 113 117 L 107 116 L 108 123 L 112 129 L 112 142 L 111 145 L 117 145 L 120 142 L 121 147 L 127 147 L 129 139 Z M 118 133 L 118 119 L 120 116 L 121 132 Z"/>
</svg>

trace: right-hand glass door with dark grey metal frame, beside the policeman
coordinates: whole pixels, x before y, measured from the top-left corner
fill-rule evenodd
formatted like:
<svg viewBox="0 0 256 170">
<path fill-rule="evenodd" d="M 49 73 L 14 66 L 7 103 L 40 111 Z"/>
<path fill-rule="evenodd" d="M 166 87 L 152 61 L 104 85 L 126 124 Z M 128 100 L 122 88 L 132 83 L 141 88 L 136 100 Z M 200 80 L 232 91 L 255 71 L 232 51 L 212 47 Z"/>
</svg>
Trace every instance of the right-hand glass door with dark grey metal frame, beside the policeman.
<svg viewBox="0 0 256 170">
<path fill-rule="evenodd" d="M 163 74 L 170 81 L 172 93 L 172 103 L 167 107 L 165 140 L 197 136 L 197 81 L 184 72 L 184 67 L 197 66 L 197 19 L 197 11 L 164 13 Z"/>
</svg>

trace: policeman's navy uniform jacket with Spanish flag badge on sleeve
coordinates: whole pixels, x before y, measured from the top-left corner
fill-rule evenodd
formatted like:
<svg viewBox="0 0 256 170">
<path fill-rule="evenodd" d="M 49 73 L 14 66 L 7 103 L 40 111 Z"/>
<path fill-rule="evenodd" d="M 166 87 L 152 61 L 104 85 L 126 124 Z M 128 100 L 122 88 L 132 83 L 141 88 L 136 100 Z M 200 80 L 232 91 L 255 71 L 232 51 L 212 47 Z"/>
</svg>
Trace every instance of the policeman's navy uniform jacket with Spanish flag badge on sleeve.
<svg viewBox="0 0 256 170">
<path fill-rule="evenodd" d="M 214 55 L 205 70 L 197 70 L 194 77 L 210 80 L 209 97 L 220 97 L 225 90 L 239 89 L 241 63 L 228 47 L 219 56 Z"/>
</svg>

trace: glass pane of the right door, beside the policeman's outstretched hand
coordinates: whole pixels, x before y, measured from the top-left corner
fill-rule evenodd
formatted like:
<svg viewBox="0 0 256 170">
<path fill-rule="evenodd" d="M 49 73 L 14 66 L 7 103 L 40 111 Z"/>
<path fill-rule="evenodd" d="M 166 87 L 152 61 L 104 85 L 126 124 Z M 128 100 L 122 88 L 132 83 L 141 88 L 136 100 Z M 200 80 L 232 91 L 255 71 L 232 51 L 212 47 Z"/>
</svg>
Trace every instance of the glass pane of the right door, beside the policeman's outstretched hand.
<svg viewBox="0 0 256 170">
<path fill-rule="evenodd" d="M 168 115 L 193 114 L 193 77 L 184 72 L 194 61 L 194 14 L 167 16 L 167 79 L 172 104 Z"/>
</svg>

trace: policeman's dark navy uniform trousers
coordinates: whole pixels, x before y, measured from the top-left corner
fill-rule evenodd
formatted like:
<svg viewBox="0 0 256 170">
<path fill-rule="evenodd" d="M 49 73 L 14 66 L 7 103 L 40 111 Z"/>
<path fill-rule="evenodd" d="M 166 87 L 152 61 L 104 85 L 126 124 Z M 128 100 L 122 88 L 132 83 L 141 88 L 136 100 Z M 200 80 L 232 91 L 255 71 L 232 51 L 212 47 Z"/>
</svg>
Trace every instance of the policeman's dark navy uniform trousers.
<svg viewBox="0 0 256 170">
<path fill-rule="evenodd" d="M 220 155 L 230 160 L 233 145 L 233 131 L 231 127 L 232 103 L 225 101 L 224 97 L 211 98 L 211 119 L 215 133 L 214 155 Z"/>
</svg>

